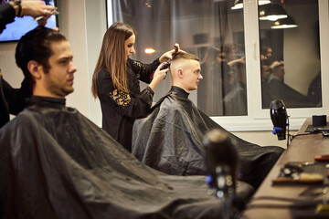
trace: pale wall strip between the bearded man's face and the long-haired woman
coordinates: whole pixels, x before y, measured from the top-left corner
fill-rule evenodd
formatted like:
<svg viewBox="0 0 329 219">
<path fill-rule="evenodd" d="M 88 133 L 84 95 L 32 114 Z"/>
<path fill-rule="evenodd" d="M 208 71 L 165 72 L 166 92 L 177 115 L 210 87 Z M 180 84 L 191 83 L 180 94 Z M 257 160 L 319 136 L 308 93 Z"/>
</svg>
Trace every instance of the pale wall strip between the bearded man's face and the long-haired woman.
<svg viewBox="0 0 329 219">
<path fill-rule="evenodd" d="M 78 68 L 74 76 L 74 92 L 67 97 L 67 106 L 75 107 L 90 117 L 90 89 L 87 56 L 87 29 L 84 0 L 58 0 L 59 30 L 67 36 Z"/>
</svg>

